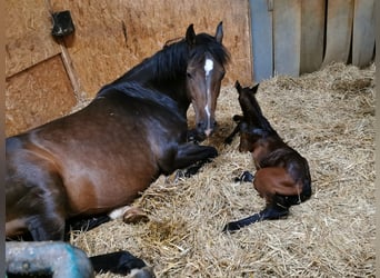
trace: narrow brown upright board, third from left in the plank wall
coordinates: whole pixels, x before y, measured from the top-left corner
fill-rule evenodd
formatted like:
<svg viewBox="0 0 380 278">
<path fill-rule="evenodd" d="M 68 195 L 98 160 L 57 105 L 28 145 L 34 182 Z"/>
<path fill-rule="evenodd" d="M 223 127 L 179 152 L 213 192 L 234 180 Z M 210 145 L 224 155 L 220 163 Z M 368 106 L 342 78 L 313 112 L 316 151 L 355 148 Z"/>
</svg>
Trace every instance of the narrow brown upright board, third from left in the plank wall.
<svg viewBox="0 0 380 278">
<path fill-rule="evenodd" d="M 300 73 L 318 70 L 323 61 L 326 0 L 302 1 Z"/>
</svg>

